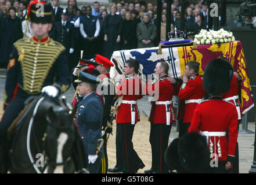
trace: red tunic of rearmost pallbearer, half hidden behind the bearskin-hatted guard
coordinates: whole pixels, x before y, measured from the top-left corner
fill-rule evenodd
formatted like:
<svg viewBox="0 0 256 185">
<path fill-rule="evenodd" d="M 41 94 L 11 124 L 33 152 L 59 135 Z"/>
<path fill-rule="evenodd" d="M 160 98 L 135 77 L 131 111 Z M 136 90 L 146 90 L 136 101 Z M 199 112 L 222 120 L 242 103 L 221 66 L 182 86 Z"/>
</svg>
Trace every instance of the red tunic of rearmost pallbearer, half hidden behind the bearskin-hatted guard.
<svg viewBox="0 0 256 185">
<path fill-rule="evenodd" d="M 223 94 L 222 98 L 225 99 L 225 98 L 230 98 L 230 97 L 235 97 L 235 96 L 238 97 L 238 90 L 239 90 L 238 82 L 237 82 L 236 76 L 233 75 L 232 80 L 231 80 L 231 84 L 230 84 L 230 90 L 228 92 L 226 92 L 225 94 Z M 240 111 L 237 110 L 237 114 L 238 114 L 238 117 L 241 119 L 243 114 L 241 113 L 242 110 L 241 110 L 241 104 L 240 104 L 239 98 L 230 99 L 228 101 L 233 103 L 235 106 L 237 106 L 237 109 L 240 110 Z"/>
</svg>

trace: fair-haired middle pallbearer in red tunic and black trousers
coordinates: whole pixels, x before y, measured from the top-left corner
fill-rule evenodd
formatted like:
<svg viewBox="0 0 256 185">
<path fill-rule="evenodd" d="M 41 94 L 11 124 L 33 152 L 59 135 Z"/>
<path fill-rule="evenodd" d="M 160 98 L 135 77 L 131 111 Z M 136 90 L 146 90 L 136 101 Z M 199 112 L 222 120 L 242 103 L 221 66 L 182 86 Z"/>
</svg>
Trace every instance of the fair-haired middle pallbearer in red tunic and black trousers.
<svg viewBox="0 0 256 185">
<path fill-rule="evenodd" d="M 167 62 L 157 62 L 154 69 L 155 77 L 159 80 L 150 80 L 143 88 L 147 95 L 153 95 L 154 99 L 150 112 L 150 136 L 149 141 L 152 148 L 152 167 L 145 173 L 167 173 L 168 168 L 164 161 L 164 151 L 168 147 L 169 135 L 172 123 L 175 121 L 172 96 L 174 86 L 167 80 L 169 66 Z"/>
</svg>

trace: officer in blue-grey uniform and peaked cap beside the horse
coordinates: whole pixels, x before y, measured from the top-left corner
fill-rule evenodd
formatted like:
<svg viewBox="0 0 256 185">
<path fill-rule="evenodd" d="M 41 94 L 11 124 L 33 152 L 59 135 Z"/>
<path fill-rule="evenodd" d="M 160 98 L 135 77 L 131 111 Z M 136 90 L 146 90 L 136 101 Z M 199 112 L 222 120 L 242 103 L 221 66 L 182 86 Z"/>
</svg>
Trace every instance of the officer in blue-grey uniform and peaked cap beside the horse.
<svg viewBox="0 0 256 185">
<path fill-rule="evenodd" d="M 78 83 L 78 94 L 84 97 L 78 104 L 77 124 L 88 157 L 90 173 L 100 173 L 100 160 L 104 157 L 103 147 L 99 149 L 99 141 L 103 142 L 103 105 L 102 99 L 95 93 L 99 81 L 97 77 L 82 71 L 75 80 Z"/>
</svg>

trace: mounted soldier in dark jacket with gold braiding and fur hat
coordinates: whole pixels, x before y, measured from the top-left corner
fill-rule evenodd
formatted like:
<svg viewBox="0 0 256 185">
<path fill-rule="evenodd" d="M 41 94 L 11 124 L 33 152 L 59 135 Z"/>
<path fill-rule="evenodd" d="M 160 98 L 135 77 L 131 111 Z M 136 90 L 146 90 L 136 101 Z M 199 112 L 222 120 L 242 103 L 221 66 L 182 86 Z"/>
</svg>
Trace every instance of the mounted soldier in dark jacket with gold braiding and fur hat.
<svg viewBox="0 0 256 185">
<path fill-rule="evenodd" d="M 41 5 L 37 6 L 38 3 Z M 37 10 L 42 5 L 44 12 L 41 12 L 42 16 L 38 16 Z M 48 35 L 52 28 L 51 4 L 39 0 L 32 1 L 28 6 L 27 17 L 31 21 L 34 35 L 17 40 L 13 44 L 6 75 L 5 112 L 0 122 L 0 169 L 3 166 L 1 162 L 6 161 L 5 154 L 10 146 L 7 130 L 23 110 L 24 101 L 41 92 L 57 97 L 67 91 L 71 83 L 65 48 Z"/>
</svg>

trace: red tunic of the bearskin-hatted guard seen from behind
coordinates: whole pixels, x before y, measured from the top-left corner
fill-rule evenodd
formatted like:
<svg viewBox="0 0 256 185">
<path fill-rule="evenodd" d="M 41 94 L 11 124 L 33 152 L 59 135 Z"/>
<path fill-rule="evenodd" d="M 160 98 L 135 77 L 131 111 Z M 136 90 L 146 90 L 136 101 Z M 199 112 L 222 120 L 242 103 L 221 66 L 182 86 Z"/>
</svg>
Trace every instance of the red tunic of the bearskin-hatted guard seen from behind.
<svg viewBox="0 0 256 185">
<path fill-rule="evenodd" d="M 219 161 L 227 160 L 228 156 L 235 157 L 237 143 L 237 112 L 235 106 L 222 99 L 210 99 L 201 102 L 194 110 L 193 118 L 188 132 L 208 131 L 208 132 L 226 132 L 228 131 L 228 140 L 226 136 L 209 136 L 213 146 L 213 153 L 218 155 L 217 143 L 220 139 L 221 155 Z"/>
</svg>

